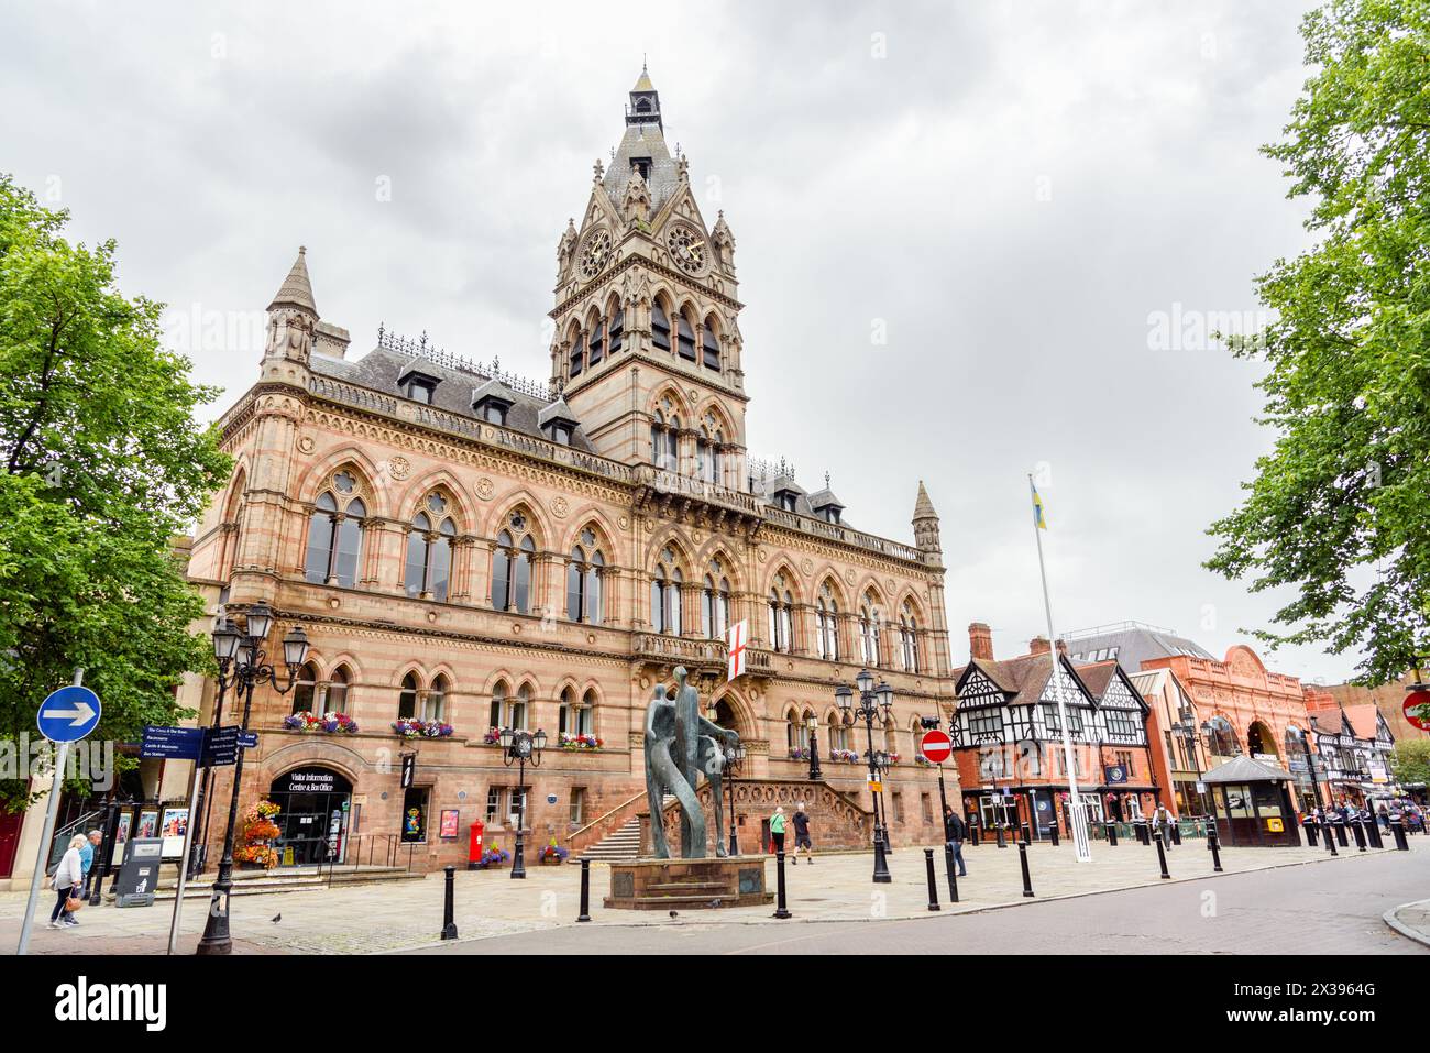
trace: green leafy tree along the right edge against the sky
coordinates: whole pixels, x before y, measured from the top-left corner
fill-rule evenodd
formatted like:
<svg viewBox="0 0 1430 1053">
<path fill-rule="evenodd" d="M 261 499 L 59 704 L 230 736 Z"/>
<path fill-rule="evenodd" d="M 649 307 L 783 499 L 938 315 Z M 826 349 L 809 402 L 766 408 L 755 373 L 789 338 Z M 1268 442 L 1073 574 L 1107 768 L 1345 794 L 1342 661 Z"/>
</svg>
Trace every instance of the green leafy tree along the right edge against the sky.
<svg viewBox="0 0 1430 1053">
<path fill-rule="evenodd" d="M 1284 139 L 1311 249 L 1257 279 L 1276 320 L 1233 339 L 1267 365 L 1276 446 L 1211 525 L 1207 567 L 1294 587 L 1261 641 L 1358 648 L 1357 680 L 1430 651 L 1430 3 L 1330 0 Z"/>
</svg>

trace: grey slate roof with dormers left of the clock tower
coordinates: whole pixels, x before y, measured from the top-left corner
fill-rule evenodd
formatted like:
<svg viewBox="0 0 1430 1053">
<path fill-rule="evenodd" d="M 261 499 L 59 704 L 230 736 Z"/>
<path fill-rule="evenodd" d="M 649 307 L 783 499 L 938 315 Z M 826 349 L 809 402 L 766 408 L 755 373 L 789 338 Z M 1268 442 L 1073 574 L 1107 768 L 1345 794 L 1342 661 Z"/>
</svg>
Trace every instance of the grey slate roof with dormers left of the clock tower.
<svg viewBox="0 0 1430 1053">
<path fill-rule="evenodd" d="M 396 398 L 405 398 L 398 379 L 409 371 L 416 369 L 439 381 L 436 391 L 432 392 L 432 405 L 435 408 L 472 419 L 476 419 L 476 413 L 472 412 L 472 399 L 478 392 L 500 392 L 500 396 L 509 399 L 512 403 L 511 409 L 506 411 L 506 426 L 515 432 L 546 438 L 546 434 L 541 429 L 541 415 L 553 402 L 512 391 L 500 381 L 495 381 L 480 372 L 453 369 L 420 355 L 383 346 L 369 351 L 356 361 L 313 355 L 310 368 L 315 373 L 330 376 L 335 381 L 343 381 L 360 388 L 372 388 L 373 391 L 380 391 L 385 395 Z M 556 402 L 561 401 L 556 399 Z M 566 412 L 569 413 L 569 409 Z M 581 449 L 586 454 L 595 452 L 595 448 L 579 425 L 571 436 L 571 445 L 573 449 Z"/>
</svg>

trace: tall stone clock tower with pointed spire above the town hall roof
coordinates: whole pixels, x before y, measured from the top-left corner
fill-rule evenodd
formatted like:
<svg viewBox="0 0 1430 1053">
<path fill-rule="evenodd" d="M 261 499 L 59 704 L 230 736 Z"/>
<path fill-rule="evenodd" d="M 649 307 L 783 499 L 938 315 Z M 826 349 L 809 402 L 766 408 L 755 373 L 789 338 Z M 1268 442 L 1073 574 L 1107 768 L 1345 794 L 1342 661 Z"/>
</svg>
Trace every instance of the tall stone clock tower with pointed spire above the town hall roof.
<svg viewBox="0 0 1430 1053">
<path fill-rule="evenodd" d="M 735 239 L 705 222 L 644 67 L 625 124 L 556 249 L 552 382 L 603 456 L 745 489 Z"/>
</svg>

